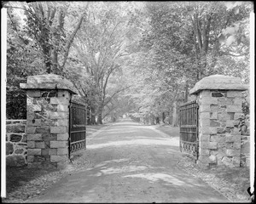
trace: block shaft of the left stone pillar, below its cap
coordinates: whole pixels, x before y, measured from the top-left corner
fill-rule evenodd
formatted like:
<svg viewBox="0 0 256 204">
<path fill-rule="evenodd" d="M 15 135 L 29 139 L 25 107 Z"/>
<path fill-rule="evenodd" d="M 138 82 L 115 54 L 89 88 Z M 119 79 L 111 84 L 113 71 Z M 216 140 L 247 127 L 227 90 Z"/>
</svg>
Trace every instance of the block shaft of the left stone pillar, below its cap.
<svg viewBox="0 0 256 204">
<path fill-rule="evenodd" d="M 27 161 L 30 167 L 61 167 L 68 160 L 68 117 L 70 93 L 58 90 L 27 90 Z M 52 92 L 53 93 L 53 92 Z"/>
</svg>

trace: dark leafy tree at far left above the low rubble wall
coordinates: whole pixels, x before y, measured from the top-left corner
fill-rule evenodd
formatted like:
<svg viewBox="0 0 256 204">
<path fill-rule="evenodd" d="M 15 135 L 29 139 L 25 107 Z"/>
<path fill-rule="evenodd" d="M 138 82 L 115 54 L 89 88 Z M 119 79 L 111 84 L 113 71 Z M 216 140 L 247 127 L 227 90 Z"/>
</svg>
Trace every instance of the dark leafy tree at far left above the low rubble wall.
<svg viewBox="0 0 256 204">
<path fill-rule="evenodd" d="M 22 19 L 15 8 L 7 9 L 7 82 L 6 113 L 8 119 L 26 119 L 26 92 L 20 82 L 44 69 L 40 51 L 23 29 Z"/>
</svg>

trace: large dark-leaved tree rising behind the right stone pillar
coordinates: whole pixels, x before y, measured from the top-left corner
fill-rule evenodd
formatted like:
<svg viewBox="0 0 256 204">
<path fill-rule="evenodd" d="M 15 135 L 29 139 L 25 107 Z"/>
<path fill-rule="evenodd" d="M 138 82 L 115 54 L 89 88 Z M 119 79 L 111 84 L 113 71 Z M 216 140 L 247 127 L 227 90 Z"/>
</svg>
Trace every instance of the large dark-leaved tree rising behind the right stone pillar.
<svg viewBox="0 0 256 204">
<path fill-rule="evenodd" d="M 247 77 L 248 70 L 242 68 L 242 65 L 248 68 L 246 60 L 241 63 L 234 58 L 247 55 L 246 37 L 237 34 L 245 28 L 251 9 L 243 3 L 230 9 L 224 3 L 215 2 L 147 3 L 148 26 L 143 31 L 140 57 L 134 64 L 145 67 L 143 73 L 147 77 L 148 72 L 154 73 L 149 74 L 149 80 L 145 78 L 145 83 L 156 82 L 156 76 L 160 78 L 160 89 L 166 87 L 162 92 L 165 98 L 168 90 L 172 90 L 173 113 L 177 101 L 186 101 L 189 88 L 202 77 L 217 73 L 237 76 L 238 69 L 243 73 L 240 77 Z M 236 37 L 230 31 L 236 31 Z M 226 32 L 229 34 L 225 35 Z M 223 60 L 232 61 L 236 70 L 227 63 L 221 65 Z M 175 90 L 177 99 L 173 94 Z M 182 93 L 185 96 L 181 98 Z M 175 114 L 173 117 L 177 118 Z"/>
</svg>

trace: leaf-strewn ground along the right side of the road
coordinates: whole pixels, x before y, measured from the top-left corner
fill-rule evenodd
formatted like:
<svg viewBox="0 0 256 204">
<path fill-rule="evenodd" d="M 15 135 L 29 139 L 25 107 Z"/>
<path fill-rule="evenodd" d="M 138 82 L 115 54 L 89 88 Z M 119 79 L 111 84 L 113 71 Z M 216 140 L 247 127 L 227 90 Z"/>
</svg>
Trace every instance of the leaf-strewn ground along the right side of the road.
<svg viewBox="0 0 256 204">
<path fill-rule="evenodd" d="M 179 137 L 179 127 L 157 126 L 156 129 L 172 137 Z M 214 167 L 202 170 L 187 156 L 178 163 L 187 172 L 202 178 L 215 189 L 227 195 L 231 201 L 249 201 L 247 188 L 250 186 L 250 170 L 248 167 L 229 168 Z"/>
</svg>

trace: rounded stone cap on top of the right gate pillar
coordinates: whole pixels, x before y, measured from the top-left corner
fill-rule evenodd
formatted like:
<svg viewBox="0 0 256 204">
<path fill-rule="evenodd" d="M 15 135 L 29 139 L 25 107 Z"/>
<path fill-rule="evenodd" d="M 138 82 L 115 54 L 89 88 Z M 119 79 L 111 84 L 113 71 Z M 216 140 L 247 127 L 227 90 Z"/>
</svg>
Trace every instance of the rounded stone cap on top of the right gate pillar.
<svg viewBox="0 0 256 204">
<path fill-rule="evenodd" d="M 195 83 L 195 87 L 189 90 L 189 94 L 197 94 L 201 90 L 239 90 L 245 91 L 248 85 L 242 84 L 239 77 L 225 75 L 212 75 L 202 78 Z"/>
</svg>

